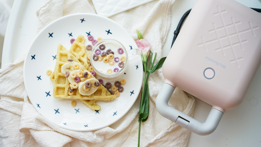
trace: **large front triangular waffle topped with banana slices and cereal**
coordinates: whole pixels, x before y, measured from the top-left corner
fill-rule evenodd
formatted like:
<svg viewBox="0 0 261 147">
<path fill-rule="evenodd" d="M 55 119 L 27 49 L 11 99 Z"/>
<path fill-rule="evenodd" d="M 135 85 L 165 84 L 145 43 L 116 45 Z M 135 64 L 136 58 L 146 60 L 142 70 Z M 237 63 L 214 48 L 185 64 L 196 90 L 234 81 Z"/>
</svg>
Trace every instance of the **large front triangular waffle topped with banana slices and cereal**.
<svg viewBox="0 0 261 147">
<path fill-rule="evenodd" d="M 79 62 L 74 55 L 65 49 L 61 44 L 58 45 L 57 55 L 56 55 L 56 65 L 54 71 L 54 89 L 53 96 L 54 98 L 63 98 L 63 99 L 80 99 L 80 100 L 113 100 L 115 95 L 111 95 L 110 92 L 102 86 L 98 87 L 96 92 L 89 96 L 81 95 L 78 92 L 78 89 L 75 89 L 73 95 L 69 95 L 70 82 L 65 78 L 64 74 L 61 72 L 61 66 L 65 63 L 68 63 L 68 59 L 72 59 L 75 62 Z M 81 67 L 83 68 L 83 67 Z M 85 69 L 85 68 L 84 68 Z M 85 69 L 86 70 L 86 69 Z M 88 70 L 87 70 L 88 71 Z M 95 78 L 92 76 L 92 78 Z"/>
</svg>

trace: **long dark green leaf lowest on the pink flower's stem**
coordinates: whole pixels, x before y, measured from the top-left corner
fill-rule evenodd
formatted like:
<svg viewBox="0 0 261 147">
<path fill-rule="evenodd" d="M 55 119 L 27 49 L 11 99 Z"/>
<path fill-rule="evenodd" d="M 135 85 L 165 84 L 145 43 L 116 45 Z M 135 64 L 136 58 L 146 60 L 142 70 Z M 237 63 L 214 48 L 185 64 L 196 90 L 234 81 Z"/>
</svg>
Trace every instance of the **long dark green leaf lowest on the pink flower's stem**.
<svg viewBox="0 0 261 147">
<path fill-rule="evenodd" d="M 149 86 L 146 85 L 145 95 L 144 95 L 144 101 L 142 106 L 142 116 L 141 116 L 141 122 L 145 122 L 148 119 L 149 116 Z"/>
</svg>

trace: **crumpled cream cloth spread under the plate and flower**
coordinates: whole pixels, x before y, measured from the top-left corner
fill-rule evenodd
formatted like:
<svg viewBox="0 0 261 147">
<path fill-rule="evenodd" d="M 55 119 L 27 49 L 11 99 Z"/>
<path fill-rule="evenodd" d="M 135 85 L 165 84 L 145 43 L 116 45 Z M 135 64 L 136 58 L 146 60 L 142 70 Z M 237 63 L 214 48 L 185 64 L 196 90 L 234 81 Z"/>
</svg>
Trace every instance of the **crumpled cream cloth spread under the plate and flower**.
<svg viewBox="0 0 261 147">
<path fill-rule="evenodd" d="M 159 0 L 109 17 L 123 26 L 134 39 L 136 30 L 157 52 L 156 62 L 170 28 L 171 8 L 175 0 Z M 95 13 L 91 1 L 48 0 L 38 10 L 39 31 L 51 21 L 76 12 Z M 125 116 L 114 124 L 89 132 L 60 128 L 41 116 L 31 105 L 23 83 L 24 56 L 0 69 L 0 146 L 70 146 L 75 138 L 84 147 L 137 146 L 140 96 Z M 140 146 L 187 146 L 190 131 L 161 116 L 155 99 L 164 82 L 161 69 L 150 74 L 149 118 L 141 123 Z M 194 98 L 175 89 L 169 105 L 193 116 Z"/>
</svg>

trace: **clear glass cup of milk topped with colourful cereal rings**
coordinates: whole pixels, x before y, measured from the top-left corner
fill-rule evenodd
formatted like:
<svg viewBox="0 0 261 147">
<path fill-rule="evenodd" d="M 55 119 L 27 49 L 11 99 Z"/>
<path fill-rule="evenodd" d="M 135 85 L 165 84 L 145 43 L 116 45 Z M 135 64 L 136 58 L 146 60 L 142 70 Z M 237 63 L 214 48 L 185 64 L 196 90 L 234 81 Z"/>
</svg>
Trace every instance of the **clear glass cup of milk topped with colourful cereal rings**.
<svg viewBox="0 0 261 147">
<path fill-rule="evenodd" d="M 127 69 L 128 60 L 139 55 L 138 49 L 126 50 L 115 39 L 103 39 L 91 50 L 90 62 L 97 75 L 104 79 L 117 79 Z"/>
</svg>

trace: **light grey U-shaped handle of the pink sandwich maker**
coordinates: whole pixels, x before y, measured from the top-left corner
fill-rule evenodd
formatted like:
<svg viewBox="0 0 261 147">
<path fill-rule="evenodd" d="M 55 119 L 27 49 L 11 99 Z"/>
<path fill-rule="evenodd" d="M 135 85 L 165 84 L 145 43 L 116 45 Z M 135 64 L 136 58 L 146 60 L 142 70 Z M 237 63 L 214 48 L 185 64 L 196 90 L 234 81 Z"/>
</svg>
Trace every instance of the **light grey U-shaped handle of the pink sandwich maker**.
<svg viewBox="0 0 261 147">
<path fill-rule="evenodd" d="M 216 130 L 223 116 L 223 112 L 212 108 L 206 121 L 201 123 L 196 119 L 172 108 L 168 105 L 168 101 L 175 88 L 167 83 L 164 83 L 156 98 L 156 108 L 158 112 L 165 118 L 177 123 L 178 125 L 198 134 L 208 135 Z"/>
</svg>

